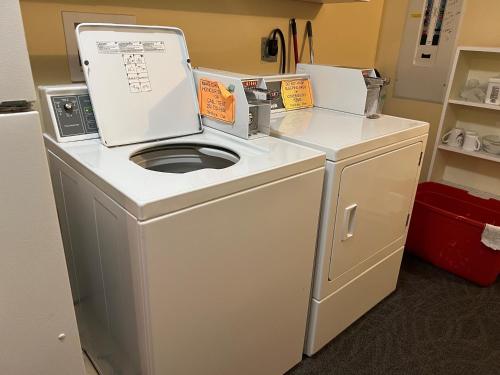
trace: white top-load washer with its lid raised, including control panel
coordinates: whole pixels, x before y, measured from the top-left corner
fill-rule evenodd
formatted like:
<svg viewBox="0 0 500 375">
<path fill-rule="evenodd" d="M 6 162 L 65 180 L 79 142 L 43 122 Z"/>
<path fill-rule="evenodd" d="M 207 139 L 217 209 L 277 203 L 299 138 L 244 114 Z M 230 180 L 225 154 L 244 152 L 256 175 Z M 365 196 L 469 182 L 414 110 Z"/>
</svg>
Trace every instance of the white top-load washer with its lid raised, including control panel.
<svg viewBox="0 0 500 375">
<path fill-rule="evenodd" d="M 302 357 L 324 153 L 203 129 L 179 29 L 77 38 L 88 94 L 40 94 L 85 351 L 102 374 L 284 373 Z"/>
</svg>

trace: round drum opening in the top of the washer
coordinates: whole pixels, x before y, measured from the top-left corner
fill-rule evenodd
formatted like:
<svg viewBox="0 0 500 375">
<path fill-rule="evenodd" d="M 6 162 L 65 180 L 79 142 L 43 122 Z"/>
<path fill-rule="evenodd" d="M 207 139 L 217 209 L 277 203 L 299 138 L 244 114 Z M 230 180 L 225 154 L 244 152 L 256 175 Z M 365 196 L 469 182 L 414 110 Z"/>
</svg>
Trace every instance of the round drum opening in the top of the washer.
<svg viewBox="0 0 500 375">
<path fill-rule="evenodd" d="M 202 144 L 167 144 L 136 152 L 130 160 L 150 171 L 188 173 L 200 169 L 224 169 L 240 157 L 223 147 Z"/>
</svg>

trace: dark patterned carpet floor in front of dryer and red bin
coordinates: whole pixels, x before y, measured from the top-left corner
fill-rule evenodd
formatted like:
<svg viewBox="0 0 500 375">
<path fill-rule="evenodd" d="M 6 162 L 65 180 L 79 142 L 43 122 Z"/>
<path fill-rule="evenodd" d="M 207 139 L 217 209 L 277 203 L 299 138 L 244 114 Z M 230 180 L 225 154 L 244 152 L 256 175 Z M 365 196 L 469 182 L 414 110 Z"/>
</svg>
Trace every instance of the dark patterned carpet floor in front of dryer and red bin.
<svg viewBox="0 0 500 375">
<path fill-rule="evenodd" d="M 500 280 L 477 287 L 405 255 L 398 289 L 287 375 L 500 374 Z"/>
</svg>

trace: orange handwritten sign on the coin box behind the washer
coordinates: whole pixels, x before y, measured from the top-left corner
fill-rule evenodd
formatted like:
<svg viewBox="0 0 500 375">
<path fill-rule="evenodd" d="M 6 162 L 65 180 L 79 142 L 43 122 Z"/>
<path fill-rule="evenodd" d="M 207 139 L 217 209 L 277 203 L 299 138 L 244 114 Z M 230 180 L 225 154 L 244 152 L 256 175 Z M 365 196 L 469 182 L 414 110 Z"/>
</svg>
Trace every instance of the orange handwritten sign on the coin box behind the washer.
<svg viewBox="0 0 500 375">
<path fill-rule="evenodd" d="M 234 95 L 222 83 L 200 79 L 198 102 L 202 115 L 229 124 L 234 123 Z"/>
</svg>

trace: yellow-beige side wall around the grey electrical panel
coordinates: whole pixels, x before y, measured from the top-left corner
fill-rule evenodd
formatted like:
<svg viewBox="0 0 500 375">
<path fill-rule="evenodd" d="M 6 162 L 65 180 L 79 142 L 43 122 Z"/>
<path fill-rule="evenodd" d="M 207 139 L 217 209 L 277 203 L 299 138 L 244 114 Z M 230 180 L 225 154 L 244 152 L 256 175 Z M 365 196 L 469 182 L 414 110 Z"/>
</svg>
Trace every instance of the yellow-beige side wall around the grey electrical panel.
<svg viewBox="0 0 500 375">
<path fill-rule="evenodd" d="M 408 2 L 409 0 L 385 0 L 384 4 L 376 66 L 383 74 L 392 78 L 396 76 L 396 64 Z M 499 15 L 500 0 L 466 0 L 459 33 L 459 45 L 500 46 Z M 422 170 L 422 178 L 425 178 L 431 161 L 442 105 L 395 98 L 392 96 L 393 88 L 394 86 L 391 85 L 388 91 L 385 113 L 415 118 L 431 124 L 430 139 Z"/>
</svg>

